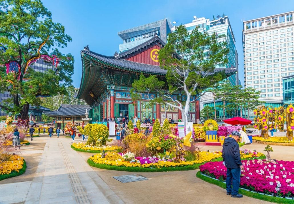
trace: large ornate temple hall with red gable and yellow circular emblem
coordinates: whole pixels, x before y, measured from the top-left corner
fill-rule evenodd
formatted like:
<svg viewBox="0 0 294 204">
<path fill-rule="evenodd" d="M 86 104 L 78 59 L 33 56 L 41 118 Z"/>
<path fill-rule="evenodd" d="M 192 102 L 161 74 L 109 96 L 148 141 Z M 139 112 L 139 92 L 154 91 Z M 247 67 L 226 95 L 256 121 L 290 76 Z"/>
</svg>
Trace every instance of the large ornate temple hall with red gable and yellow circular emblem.
<svg viewBox="0 0 294 204">
<path fill-rule="evenodd" d="M 148 98 L 156 98 L 157 93 L 141 93 L 141 100 L 132 101 L 130 90 L 134 80 L 138 80 L 141 73 L 146 77 L 156 75 L 159 80 L 165 80 L 166 70 L 159 67 L 158 51 L 165 45 L 156 34 L 142 44 L 114 56 L 105 56 L 90 51 L 86 46 L 81 51 L 82 78 L 77 98 L 83 99 L 91 106 L 90 117 L 93 121 L 102 121 L 107 117 L 121 117 L 128 115 L 130 119 L 137 116 L 141 120 L 173 119 L 175 122 L 182 118 L 181 111 L 168 105 L 148 106 Z M 216 68 L 215 72 L 224 69 Z M 225 69 L 227 76 L 236 73 L 236 69 Z M 181 94 L 173 95 L 173 98 Z M 195 96 L 191 98 L 194 100 Z M 173 103 L 173 102 L 171 102 Z M 177 105 L 175 103 L 175 105 Z M 188 119 L 199 123 L 199 101 L 190 104 Z"/>
</svg>

